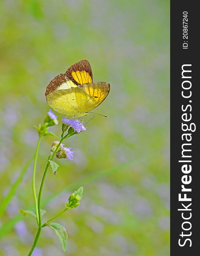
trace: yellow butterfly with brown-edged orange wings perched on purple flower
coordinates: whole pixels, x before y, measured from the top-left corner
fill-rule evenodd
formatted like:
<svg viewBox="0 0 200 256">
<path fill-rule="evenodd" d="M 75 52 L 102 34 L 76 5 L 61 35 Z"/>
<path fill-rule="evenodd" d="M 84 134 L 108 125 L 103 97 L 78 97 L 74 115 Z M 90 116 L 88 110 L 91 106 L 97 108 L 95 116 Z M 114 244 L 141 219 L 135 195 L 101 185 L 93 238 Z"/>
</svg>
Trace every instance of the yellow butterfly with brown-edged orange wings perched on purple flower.
<svg viewBox="0 0 200 256">
<path fill-rule="evenodd" d="M 82 60 L 64 74 L 59 74 L 46 87 L 46 101 L 59 113 L 80 117 L 96 108 L 110 91 L 110 84 L 93 84 L 93 73 L 89 61 Z"/>
</svg>

